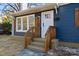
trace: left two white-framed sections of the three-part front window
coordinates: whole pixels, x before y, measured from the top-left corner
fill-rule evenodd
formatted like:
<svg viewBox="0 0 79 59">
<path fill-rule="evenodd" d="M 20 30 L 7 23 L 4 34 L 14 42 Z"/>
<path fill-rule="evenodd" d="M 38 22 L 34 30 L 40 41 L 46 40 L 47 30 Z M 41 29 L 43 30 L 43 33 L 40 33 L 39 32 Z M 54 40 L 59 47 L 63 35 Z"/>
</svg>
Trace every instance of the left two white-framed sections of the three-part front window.
<svg viewBox="0 0 79 59">
<path fill-rule="evenodd" d="M 26 32 L 28 29 L 27 17 L 17 17 L 16 18 L 16 31 L 17 32 Z"/>
</svg>

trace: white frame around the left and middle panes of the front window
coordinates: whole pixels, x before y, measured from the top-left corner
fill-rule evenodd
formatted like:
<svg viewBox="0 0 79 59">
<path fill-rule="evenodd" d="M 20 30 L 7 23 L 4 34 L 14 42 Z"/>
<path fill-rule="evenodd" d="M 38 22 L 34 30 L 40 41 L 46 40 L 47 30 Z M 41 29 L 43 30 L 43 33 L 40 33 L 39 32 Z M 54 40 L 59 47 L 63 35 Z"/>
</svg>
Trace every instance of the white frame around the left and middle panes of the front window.
<svg viewBox="0 0 79 59">
<path fill-rule="evenodd" d="M 35 18 L 35 14 L 16 18 L 16 32 L 27 32 L 29 30 L 29 17 L 30 16 L 34 16 Z M 27 30 L 23 30 L 23 17 L 27 17 Z M 21 18 L 21 30 L 18 30 L 18 18 Z"/>
</svg>

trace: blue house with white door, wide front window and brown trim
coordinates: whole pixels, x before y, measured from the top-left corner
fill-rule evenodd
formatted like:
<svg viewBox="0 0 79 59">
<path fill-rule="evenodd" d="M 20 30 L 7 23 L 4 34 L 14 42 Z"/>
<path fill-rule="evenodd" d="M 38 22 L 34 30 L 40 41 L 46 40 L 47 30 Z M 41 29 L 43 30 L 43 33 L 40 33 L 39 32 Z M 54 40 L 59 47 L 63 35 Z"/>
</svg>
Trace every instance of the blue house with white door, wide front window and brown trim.
<svg viewBox="0 0 79 59">
<path fill-rule="evenodd" d="M 35 31 L 36 37 L 45 38 L 45 51 L 49 49 L 48 46 L 51 45 L 52 39 L 70 43 L 66 43 L 66 45 L 79 46 L 78 3 L 51 3 L 19 11 L 13 13 L 12 16 L 12 35 L 24 36 L 30 28 L 35 27 L 33 31 Z M 55 31 L 49 28 L 51 26 L 55 28 Z M 48 29 L 50 30 L 48 31 Z M 73 44 L 73 42 L 77 44 Z"/>
</svg>

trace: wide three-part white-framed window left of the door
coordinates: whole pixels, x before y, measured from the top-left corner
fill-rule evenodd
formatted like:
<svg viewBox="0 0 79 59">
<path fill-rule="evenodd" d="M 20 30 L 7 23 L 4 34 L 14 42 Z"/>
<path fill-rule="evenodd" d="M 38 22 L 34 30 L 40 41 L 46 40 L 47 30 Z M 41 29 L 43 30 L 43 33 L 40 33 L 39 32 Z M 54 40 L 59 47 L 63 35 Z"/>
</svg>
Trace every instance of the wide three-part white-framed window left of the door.
<svg viewBox="0 0 79 59">
<path fill-rule="evenodd" d="M 26 32 L 29 28 L 35 26 L 35 16 L 28 15 L 16 18 L 16 32 Z"/>
</svg>

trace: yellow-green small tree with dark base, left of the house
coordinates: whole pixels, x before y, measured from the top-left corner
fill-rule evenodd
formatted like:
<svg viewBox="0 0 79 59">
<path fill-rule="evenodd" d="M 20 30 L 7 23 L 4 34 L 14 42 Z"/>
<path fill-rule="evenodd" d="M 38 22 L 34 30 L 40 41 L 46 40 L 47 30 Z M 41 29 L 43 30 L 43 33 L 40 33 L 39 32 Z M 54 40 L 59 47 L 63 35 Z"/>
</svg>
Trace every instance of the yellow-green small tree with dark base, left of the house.
<svg viewBox="0 0 79 59">
<path fill-rule="evenodd" d="M 3 26 L 3 30 L 5 33 L 10 33 L 11 32 L 11 24 L 12 24 L 12 20 L 11 20 L 11 16 L 3 16 L 2 17 L 2 26 Z"/>
</svg>

